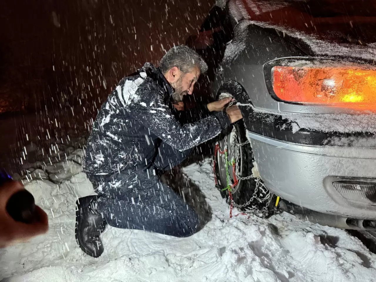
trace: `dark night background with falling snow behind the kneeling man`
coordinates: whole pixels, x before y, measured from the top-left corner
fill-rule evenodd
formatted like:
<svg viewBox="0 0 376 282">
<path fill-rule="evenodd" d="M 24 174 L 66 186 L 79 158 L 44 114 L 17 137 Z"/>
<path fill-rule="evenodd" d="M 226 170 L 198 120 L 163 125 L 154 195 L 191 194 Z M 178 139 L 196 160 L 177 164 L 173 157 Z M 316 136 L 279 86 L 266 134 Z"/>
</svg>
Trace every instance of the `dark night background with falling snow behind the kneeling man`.
<svg viewBox="0 0 376 282">
<path fill-rule="evenodd" d="M 27 139 L 45 136 L 53 143 L 72 130 L 87 133 L 111 87 L 144 62 L 158 64 L 164 50 L 197 34 L 213 4 L 2 1 L 1 165 L 14 169 Z"/>
</svg>

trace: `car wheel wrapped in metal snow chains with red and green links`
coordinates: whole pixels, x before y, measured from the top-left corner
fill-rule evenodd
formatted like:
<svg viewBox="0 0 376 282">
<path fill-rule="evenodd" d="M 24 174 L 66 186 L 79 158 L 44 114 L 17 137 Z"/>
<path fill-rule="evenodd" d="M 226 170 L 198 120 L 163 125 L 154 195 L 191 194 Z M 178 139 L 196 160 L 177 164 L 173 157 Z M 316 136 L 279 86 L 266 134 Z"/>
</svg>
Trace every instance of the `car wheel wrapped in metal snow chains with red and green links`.
<svg viewBox="0 0 376 282">
<path fill-rule="evenodd" d="M 261 217 L 273 213 L 273 194 L 259 177 L 243 121 L 221 133 L 214 148 L 216 186 L 230 205 Z"/>
</svg>

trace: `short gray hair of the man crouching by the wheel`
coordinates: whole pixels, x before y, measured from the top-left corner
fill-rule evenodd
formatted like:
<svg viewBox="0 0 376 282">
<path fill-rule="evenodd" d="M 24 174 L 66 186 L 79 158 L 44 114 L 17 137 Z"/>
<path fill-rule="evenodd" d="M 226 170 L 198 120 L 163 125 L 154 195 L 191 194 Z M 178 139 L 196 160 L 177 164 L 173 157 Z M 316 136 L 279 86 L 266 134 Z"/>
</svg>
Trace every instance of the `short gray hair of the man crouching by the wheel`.
<svg viewBox="0 0 376 282">
<path fill-rule="evenodd" d="M 198 67 L 201 73 L 206 73 L 208 70 L 204 59 L 186 45 L 172 47 L 159 62 L 163 74 L 173 67 L 178 67 L 183 74 L 191 72 L 194 67 Z"/>
</svg>

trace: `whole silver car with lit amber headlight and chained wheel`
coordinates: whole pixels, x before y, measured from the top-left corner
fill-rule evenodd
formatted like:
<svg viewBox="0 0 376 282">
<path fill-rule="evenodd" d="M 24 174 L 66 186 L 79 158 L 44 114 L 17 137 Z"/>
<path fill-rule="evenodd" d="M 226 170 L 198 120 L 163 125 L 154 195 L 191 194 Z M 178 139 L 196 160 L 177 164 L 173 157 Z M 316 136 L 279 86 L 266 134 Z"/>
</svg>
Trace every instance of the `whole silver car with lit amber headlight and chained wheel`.
<svg viewBox="0 0 376 282">
<path fill-rule="evenodd" d="M 244 117 L 215 145 L 218 188 L 244 211 L 267 216 L 277 205 L 374 230 L 375 4 L 268 3 L 217 2 L 191 38 L 204 56 L 222 54 L 213 96 L 235 98 Z"/>
</svg>

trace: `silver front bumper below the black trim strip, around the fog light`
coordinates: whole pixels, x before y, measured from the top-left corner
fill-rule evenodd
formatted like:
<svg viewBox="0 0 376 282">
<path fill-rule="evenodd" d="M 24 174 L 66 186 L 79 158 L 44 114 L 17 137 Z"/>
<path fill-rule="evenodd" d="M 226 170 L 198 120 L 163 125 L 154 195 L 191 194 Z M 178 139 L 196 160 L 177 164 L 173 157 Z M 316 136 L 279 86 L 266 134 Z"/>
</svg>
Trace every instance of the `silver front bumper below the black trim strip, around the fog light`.
<svg viewBox="0 0 376 282">
<path fill-rule="evenodd" d="M 376 219 L 376 206 L 347 202 L 328 180 L 362 177 L 376 181 L 376 149 L 296 144 L 249 130 L 247 138 L 262 180 L 277 196 L 325 214 Z"/>
</svg>

